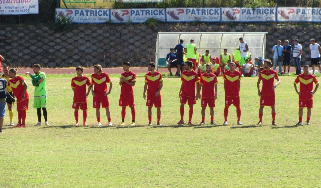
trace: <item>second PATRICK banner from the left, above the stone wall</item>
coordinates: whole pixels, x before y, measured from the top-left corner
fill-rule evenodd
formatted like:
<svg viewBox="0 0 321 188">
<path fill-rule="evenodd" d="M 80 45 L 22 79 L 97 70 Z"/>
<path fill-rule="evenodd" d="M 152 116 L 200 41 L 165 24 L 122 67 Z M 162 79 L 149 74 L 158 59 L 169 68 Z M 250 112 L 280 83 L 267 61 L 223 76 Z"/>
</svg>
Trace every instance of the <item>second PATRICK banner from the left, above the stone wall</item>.
<svg viewBox="0 0 321 188">
<path fill-rule="evenodd" d="M 165 9 L 163 8 L 111 9 L 110 11 L 113 23 L 143 23 L 149 18 L 165 22 Z"/>
</svg>

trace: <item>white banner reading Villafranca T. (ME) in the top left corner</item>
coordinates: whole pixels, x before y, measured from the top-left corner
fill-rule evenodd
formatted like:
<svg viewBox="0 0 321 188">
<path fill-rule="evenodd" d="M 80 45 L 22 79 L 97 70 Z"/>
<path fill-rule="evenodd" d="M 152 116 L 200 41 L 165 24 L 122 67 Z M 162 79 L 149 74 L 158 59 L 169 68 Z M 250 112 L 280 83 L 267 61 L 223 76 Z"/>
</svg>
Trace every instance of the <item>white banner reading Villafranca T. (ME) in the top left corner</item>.
<svg viewBox="0 0 321 188">
<path fill-rule="evenodd" d="M 0 0 L 0 14 L 38 14 L 38 0 Z"/>
</svg>

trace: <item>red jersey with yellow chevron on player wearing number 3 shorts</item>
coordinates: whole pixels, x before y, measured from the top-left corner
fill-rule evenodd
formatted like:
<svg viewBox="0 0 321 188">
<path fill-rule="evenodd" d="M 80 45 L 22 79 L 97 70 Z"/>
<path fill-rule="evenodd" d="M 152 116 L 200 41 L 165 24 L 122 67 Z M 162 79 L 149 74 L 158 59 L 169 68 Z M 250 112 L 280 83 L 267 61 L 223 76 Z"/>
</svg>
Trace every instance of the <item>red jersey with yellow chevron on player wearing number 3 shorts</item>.
<svg viewBox="0 0 321 188">
<path fill-rule="evenodd" d="M 151 72 L 147 73 L 145 75 L 145 82 L 148 83 L 147 95 L 154 96 L 155 93 L 160 88 L 160 81 L 162 80 L 163 80 L 163 76 L 161 75 L 160 72 L 155 71 L 154 74 L 152 74 Z"/>
</svg>

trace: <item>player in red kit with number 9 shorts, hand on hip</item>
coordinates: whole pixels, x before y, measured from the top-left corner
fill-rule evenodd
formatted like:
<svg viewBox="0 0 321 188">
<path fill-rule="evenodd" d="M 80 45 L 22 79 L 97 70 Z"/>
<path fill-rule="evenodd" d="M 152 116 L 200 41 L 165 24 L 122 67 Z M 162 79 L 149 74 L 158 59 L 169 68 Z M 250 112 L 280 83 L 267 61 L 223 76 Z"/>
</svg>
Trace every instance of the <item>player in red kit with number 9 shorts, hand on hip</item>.
<svg viewBox="0 0 321 188">
<path fill-rule="evenodd" d="M 91 94 L 92 96 L 94 96 L 92 99 L 92 107 L 96 108 L 96 118 L 98 122 L 97 126 L 101 126 L 100 103 L 101 103 L 101 107 L 106 109 L 108 126 L 113 126 L 110 118 L 109 100 L 108 100 L 108 95 L 111 92 L 113 83 L 111 82 L 108 74 L 102 72 L 101 65 L 94 65 L 94 74 L 91 75 L 91 83 L 92 83 Z M 107 83 L 109 83 L 109 90 L 107 88 Z"/>
</svg>

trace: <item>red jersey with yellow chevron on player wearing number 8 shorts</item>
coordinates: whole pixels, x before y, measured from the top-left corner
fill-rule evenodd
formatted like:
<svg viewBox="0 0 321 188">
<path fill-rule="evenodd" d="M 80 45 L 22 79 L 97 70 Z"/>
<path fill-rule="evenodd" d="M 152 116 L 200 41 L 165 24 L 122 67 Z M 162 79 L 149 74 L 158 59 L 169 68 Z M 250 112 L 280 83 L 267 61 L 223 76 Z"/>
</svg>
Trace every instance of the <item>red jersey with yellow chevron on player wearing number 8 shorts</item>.
<svg viewBox="0 0 321 188">
<path fill-rule="evenodd" d="M 272 89 L 272 87 L 274 85 L 274 79 L 278 77 L 278 73 L 272 69 L 269 71 L 264 69 L 260 72 L 259 79 L 262 80 L 262 95 L 275 95 L 275 91 Z"/>
</svg>

